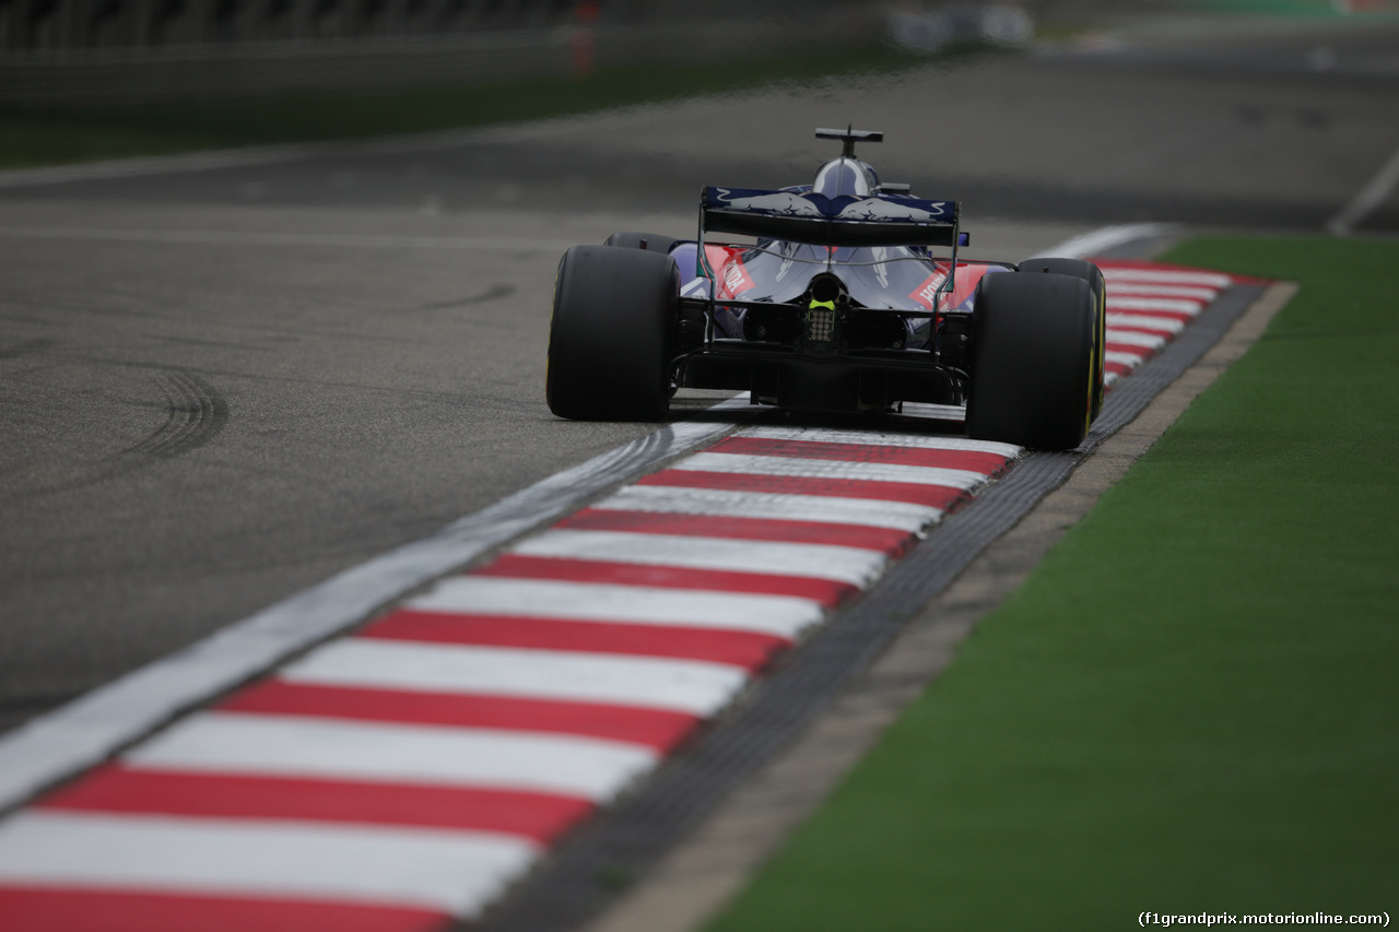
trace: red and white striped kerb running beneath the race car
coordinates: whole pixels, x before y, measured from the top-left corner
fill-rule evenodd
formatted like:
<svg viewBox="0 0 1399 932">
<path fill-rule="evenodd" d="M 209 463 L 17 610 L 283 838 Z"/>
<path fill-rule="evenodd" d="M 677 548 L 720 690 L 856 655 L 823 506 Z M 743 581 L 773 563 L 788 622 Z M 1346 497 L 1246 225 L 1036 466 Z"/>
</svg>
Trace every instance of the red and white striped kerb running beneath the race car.
<svg viewBox="0 0 1399 932">
<path fill-rule="evenodd" d="M 1101 264 L 1109 382 L 1230 283 Z M 197 379 L 166 389 L 155 456 L 221 425 Z M 739 430 L 0 823 L 7 929 L 108 908 L 157 931 L 478 918 L 1018 455 Z"/>
</svg>

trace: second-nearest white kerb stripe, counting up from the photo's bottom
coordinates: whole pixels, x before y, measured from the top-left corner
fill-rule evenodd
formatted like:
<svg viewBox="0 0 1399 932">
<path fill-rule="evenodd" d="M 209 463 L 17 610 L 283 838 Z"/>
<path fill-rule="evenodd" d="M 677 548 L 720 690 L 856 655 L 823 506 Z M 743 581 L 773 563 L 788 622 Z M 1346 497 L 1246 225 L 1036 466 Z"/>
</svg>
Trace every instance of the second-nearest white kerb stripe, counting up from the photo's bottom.
<svg viewBox="0 0 1399 932">
<path fill-rule="evenodd" d="M 491 786 L 611 799 L 655 765 L 642 744 L 441 725 L 203 712 L 123 757 L 133 768 Z"/>
</svg>

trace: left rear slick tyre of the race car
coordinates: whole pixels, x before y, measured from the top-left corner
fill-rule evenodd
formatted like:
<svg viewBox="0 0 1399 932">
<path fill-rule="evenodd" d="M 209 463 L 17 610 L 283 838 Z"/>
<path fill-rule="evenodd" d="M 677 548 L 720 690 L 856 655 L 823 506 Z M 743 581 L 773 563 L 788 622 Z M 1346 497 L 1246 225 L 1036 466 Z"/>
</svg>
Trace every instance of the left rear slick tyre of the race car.
<svg viewBox="0 0 1399 932">
<path fill-rule="evenodd" d="M 564 253 L 548 330 L 548 410 L 582 421 L 665 420 L 679 295 L 670 256 L 611 246 Z"/>
</svg>

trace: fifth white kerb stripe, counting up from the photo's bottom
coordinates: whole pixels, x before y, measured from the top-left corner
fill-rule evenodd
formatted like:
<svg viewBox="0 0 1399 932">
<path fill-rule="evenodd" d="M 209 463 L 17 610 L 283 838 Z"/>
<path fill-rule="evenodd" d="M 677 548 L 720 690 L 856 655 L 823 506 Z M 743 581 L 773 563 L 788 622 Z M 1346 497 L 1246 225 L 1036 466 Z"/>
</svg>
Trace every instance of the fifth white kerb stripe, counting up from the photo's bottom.
<svg viewBox="0 0 1399 932">
<path fill-rule="evenodd" d="M 625 530 L 548 530 L 520 543 L 515 553 L 526 557 L 835 579 L 860 588 L 873 582 L 888 564 L 883 551 L 858 547 Z"/>
</svg>

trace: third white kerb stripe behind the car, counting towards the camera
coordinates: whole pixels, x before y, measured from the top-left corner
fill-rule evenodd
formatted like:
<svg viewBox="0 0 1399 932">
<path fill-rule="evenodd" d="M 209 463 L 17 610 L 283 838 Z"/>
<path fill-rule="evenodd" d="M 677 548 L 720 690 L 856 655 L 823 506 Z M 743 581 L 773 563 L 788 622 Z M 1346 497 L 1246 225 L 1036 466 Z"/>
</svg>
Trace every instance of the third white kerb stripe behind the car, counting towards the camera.
<svg viewBox="0 0 1399 932">
<path fill-rule="evenodd" d="M 616 495 L 593 502 L 602 511 L 648 511 L 719 518 L 771 518 L 866 528 L 893 528 L 918 533 L 942 518 L 940 508 L 872 498 L 830 495 L 774 495 L 727 488 L 683 486 L 627 486 Z"/>
</svg>

